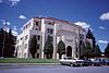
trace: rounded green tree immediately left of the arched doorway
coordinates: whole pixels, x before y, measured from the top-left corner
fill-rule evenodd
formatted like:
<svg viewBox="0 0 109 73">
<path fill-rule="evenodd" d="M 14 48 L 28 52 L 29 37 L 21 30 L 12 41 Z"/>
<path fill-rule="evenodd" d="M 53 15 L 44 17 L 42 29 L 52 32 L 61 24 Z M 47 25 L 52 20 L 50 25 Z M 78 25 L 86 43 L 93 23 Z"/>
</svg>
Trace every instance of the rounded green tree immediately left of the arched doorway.
<svg viewBox="0 0 109 73">
<path fill-rule="evenodd" d="M 65 53 L 65 45 L 62 40 L 60 40 L 58 44 L 57 52 L 59 53 L 59 59 L 61 59 L 61 56 Z"/>
</svg>

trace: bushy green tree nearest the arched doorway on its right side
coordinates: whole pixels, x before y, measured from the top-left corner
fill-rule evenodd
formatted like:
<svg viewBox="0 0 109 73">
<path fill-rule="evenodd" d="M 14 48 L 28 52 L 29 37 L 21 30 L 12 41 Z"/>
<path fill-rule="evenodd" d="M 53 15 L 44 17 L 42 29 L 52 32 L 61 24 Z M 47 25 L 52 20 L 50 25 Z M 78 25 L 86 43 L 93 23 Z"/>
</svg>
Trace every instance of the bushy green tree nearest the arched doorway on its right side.
<svg viewBox="0 0 109 73">
<path fill-rule="evenodd" d="M 86 47 L 83 49 L 82 56 L 85 58 L 92 57 L 92 47 L 89 42 L 86 42 Z"/>
</svg>

